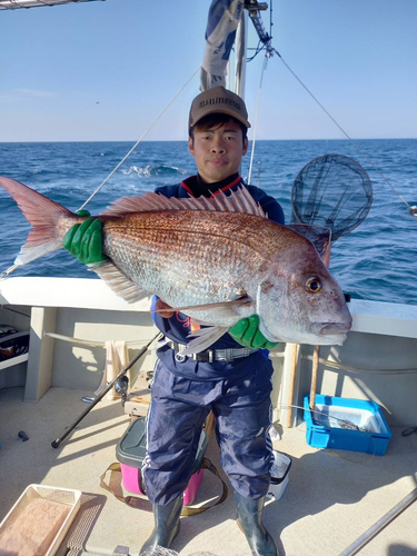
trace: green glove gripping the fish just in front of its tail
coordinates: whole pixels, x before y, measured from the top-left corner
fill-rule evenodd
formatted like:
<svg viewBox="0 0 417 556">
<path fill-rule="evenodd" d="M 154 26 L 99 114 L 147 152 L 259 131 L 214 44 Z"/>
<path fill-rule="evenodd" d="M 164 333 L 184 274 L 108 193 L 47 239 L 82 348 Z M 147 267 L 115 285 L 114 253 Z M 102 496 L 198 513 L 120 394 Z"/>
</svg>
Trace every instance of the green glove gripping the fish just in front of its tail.
<svg viewBox="0 0 417 556">
<path fill-rule="evenodd" d="M 88 210 L 78 210 L 78 216 L 90 216 Z M 98 218 L 87 218 L 76 224 L 63 237 L 63 247 L 85 265 L 107 260 L 102 252 L 102 224 Z"/>
</svg>

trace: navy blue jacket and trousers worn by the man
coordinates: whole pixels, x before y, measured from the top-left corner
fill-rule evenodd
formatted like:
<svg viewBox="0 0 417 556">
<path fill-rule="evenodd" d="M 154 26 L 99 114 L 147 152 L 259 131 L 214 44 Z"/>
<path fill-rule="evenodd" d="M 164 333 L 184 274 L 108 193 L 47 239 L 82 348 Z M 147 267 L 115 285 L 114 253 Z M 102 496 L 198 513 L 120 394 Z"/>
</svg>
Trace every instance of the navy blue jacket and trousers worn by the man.
<svg viewBox="0 0 417 556">
<path fill-rule="evenodd" d="M 236 175 L 217 189 L 227 191 L 244 185 Z M 192 176 L 179 186 L 158 188 L 166 197 L 199 195 L 199 180 Z M 262 190 L 246 186 L 268 218 L 284 224 L 279 203 Z M 216 189 L 216 190 L 217 190 Z M 196 195 L 197 193 L 197 195 Z M 153 306 L 156 298 L 153 299 Z M 142 476 L 151 503 L 167 505 L 187 488 L 196 458 L 201 427 L 214 411 L 221 466 L 232 487 L 247 498 L 267 494 L 271 466 L 270 393 L 272 365 L 267 350 L 231 360 L 211 360 L 203 354 L 196 360 L 178 357 L 172 342 L 187 344 L 189 318 L 176 312 L 171 318 L 152 314 L 166 340 L 158 349 L 147 415 L 147 456 Z M 215 350 L 241 348 L 228 334 Z M 236 351 L 237 353 L 237 351 Z M 177 358 L 176 358 L 177 354 Z"/>
</svg>

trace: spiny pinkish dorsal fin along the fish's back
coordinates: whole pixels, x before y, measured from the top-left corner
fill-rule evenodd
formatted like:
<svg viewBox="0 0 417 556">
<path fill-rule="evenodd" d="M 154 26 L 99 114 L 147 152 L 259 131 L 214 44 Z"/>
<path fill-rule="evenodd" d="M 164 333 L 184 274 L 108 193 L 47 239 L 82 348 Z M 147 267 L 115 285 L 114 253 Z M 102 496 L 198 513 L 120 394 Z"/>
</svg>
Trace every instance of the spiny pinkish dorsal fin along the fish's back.
<svg viewBox="0 0 417 556">
<path fill-rule="evenodd" d="M 160 193 L 136 195 L 123 197 L 115 201 L 101 216 L 121 216 L 127 212 L 147 212 L 159 210 L 215 210 L 218 212 L 241 212 L 245 215 L 267 218 L 264 209 L 256 202 L 246 187 L 239 187 L 236 191 L 219 191 L 210 199 L 207 197 L 189 197 L 177 199 L 165 197 Z"/>
</svg>

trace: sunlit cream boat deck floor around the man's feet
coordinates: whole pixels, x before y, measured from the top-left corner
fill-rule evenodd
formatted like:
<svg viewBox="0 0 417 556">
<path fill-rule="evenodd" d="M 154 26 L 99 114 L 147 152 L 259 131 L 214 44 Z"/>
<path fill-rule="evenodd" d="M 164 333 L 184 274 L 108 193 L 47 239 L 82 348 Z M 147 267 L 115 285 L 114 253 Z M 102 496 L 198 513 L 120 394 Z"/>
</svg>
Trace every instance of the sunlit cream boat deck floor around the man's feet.
<svg viewBox="0 0 417 556">
<path fill-rule="evenodd" d="M 79 489 L 82 505 L 58 555 L 113 554 L 117 546 L 137 555 L 152 528 L 150 504 L 129 507 L 100 487 L 129 424 L 120 401 L 100 401 L 58 449 L 51 447 L 86 409 L 86 394 L 50 388 L 39 403 L 29 404 L 22 401 L 21 387 L 0 390 L 0 519 L 29 484 Z M 29 440 L 18 437 L 20 430 Z M 292 458 L 289 484 L 264 514 L 281 556 L 338 556 L 416 488 L 417 434 L 403 437 L 403 428 L 391 430 L 387 454 L 380 457 L 318 450 L 307 445 L 305 425 L 284 429 L 275 447 Z M 207 455 L 220 469 L 214 436 Z M 116 488 L 118 474 L 112 478 Z M 212 502 L 220 492 L 219 480 L 205 471 L 196 503 Z M 411 504 L 359 554 L 416 556 L 416 523 L 417 504 Z M 231 488 L 222 505 L 181 518 L 171 548 L 185 556 L 249 556 L 235 522 Z"/>
</svg>

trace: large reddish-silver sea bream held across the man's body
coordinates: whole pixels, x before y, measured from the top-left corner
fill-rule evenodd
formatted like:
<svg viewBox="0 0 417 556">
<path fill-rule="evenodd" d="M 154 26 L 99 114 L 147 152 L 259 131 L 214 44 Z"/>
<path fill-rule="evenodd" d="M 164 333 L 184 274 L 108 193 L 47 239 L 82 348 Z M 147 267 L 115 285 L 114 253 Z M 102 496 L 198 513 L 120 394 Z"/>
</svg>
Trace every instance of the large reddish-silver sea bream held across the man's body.
<svg viewBox="0 0 417 556">
<path fill-rule="evenodd" d="M 32 225 L 16 264 L 60 249 L 85 220 L 10 178 L 0 178 Z M 127 301 L 156 294 L 207 325 L 187 353 L 210 346 L 257 314 L 270 341 L 340 344 L 351 327 L 344 294 L 304 236 L 267 219 L 242 188 L 212 199 L 126 197 L 100 216 L 108 261 L 91 268 Z"/>
</svg>

